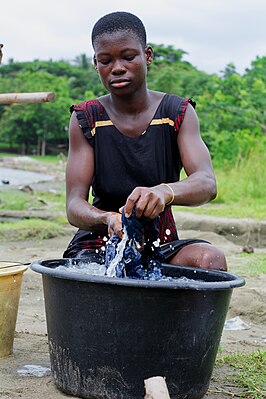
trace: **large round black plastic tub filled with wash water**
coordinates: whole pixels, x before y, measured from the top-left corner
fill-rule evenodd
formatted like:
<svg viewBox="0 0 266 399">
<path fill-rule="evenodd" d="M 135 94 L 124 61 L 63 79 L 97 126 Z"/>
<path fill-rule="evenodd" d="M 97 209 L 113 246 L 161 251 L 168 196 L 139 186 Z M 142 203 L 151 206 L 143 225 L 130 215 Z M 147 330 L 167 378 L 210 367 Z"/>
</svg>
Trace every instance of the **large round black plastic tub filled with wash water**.
<svg viewBox="0 0 266 399">
<path fill-rule="evenodd" d="M 172 399 L 204 396 L 241 277 L 171 265 L 163 265 L 165 275 L 185 278 L 141 281 L 56 269 L 67 263 L 31 266 L 43 277 L 59 389 L 90 399 L 140 399 L 144 379 L 163 376 Z"/>
</svg>

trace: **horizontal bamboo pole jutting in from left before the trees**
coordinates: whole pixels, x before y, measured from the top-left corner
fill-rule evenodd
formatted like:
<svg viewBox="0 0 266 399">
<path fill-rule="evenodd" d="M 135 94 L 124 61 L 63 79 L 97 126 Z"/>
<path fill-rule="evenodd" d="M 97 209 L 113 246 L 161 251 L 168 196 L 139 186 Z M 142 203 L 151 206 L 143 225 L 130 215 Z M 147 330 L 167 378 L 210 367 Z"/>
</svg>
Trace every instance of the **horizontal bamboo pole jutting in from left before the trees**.
<svg viewBox="0 0 266 399">
<path fill-rule="evenodd" d="M 0 104 L 36 104 L 51 102 L 55 99 L 55 94 L 52 92 L 37 92 L 37 93 L 1 93 Z"/>
</svg>

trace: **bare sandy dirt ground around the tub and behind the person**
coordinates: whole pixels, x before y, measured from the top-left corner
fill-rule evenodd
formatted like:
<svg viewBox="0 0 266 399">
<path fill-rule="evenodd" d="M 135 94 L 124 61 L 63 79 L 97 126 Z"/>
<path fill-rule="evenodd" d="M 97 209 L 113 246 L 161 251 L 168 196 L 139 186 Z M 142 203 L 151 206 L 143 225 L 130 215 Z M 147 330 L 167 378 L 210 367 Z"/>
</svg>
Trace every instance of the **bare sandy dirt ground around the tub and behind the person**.
<svg viewBox="0 0 266 399">
<path fill-rule="evenodd" d="M 19 164 L 17 165 L 18 161 Z M 47 166 L 40 168 L 39 164 L 30 161 L 27 157 L 1 159 L 1 164 L 5 167 L 51 173 Z M 64 164 L 60 166 L 59 170 L 54 171 L 57 176 L 56 182 L 48 182 L 46 185 L 42 183 L 39 188 L 55 189 L 57 182 L 62 184 L 63 171 Z M 191 223 L 187 223 L 187 220 L 191 221 L 192 219 L 194 228 L 190 226 Z M 242 226 L 239 227 L 236 226 L 235 220 L 230 224 L 228 221 L 222 221 L 219 218 L 216 221 L 212 219 L 212 223 L 211 221 L 208 222 L 208 218 L 205 219 L 186 214 L 183 215 L 181 220 L 179 214 L 177 226 L 180 238 L 202 238 L 219 246 L 226 254 L 229 271 L 235 273 L 243 262 L 247 262 L 246 258 L 240 256 L 243 246 L 243 242 L 240 242 L 240 236 L 242 230 L 247 230 L 246 221 L 243 221 Z M 265 224 L 265 221 L 263 223 Z M 182 225 L 183 229 L 192 229 L 182 230 Z M 236 227 L 239 240 L 236 239 L 236 234 L 231 234 L 232 229 L 235 230 Z M 262 248 L 262 245 L 259 245 L 260 248 L 256 248 L 256 243 L 262 244 L 265 226 L 260 225 L 259 229 L 257 226 L 252 226 L 253 236 L 255 236 L 257 230 L 260 231 L 260 236 L 252 243 L 255 246 L 255 253 L 266 254 L 265 245 L 264 248 Z M 31 263 L 36 260 L 61 258 L 74 231 L 75 229 L 69 229 L 68 234 L 63 237 L 41 242 L 0 242 L 0 259 Z M 262 231 L 264 231 L 263 234 Z M 230 239 L 230 237 L 234 239 Z M 246 240 L 246 237 L 244 239 Z M 249 256 L 252 257 L 252 254 Z M 220 343 L 222 354 L 255 352 L 258 349 L 266 348 L 266 274 L 256 277 L 243 277 L 245 277 L 246 285 L 233 291 L 227 320 L 238 316 L 249 328 L 245 330 L 224 330 Z M 229 373 L 230 370 L 226 366 L 214 368 L 206 399 L 223 399 L 226 396 L 222 391 L 238 392 L 235 386 L 225 382 L 224 377 Z M 233 394 L 229 396 L 233 397 Z M 30 268 L 23 277 L 14 351 L 12 355 L 0 359 L 0 398 L 74 398 L 74 396 L 68 396 L 59 391 L 51 376 L 42 277 Z"/>
</svg>

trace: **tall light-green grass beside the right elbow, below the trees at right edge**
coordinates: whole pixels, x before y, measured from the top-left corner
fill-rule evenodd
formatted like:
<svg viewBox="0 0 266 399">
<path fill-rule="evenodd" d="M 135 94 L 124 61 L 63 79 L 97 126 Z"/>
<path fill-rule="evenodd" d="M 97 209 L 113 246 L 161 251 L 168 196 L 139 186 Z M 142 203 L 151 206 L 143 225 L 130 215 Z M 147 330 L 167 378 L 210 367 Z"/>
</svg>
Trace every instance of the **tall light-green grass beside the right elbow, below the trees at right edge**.
<svg viewBox="0 0 266 399">
<path fill-rule="evenodd" d="M 217 198 L 200 207 L 175 207 L 175 211 L 189 211 L 233 218 L 266 218 L 266 151 L 264 144 L 253 148 L 247 159 L 234 165 L 215 165 Z M 181 178 L 185 178 L 182 171 Z"/>
</svg>

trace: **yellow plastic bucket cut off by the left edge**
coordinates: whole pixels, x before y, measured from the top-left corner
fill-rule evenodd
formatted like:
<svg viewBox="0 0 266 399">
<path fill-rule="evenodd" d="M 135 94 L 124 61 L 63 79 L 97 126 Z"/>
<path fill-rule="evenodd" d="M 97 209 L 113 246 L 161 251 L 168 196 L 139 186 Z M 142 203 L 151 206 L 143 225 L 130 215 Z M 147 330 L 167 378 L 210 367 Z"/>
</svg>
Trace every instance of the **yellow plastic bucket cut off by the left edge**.
<svg viewBox="0 0 266 399">
<path fill-rule="evenodd" d="M 13 352 L 23 273 L 27 266 L 0 261 L 0 358 Z"/>
</svg>

